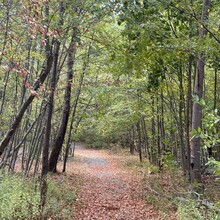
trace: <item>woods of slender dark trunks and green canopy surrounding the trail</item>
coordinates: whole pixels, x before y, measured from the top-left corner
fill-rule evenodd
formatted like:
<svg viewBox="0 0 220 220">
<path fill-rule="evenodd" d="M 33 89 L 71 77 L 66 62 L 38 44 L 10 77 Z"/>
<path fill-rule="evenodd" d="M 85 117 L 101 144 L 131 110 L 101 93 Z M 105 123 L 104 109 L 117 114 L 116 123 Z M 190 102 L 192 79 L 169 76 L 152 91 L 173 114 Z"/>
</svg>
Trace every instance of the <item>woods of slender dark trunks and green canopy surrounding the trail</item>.
<svg viewBox="0 0 220 220">
<path fill-rule="evenodd" d="M 204 194 L 205 174 L 220 174 L 219 11 L 217 0 L 2 1 L 2 172 L 40 177 L 43 213 L 48 174 L 66 172 L 81 141 L 175 168 Z"/>
</svg>

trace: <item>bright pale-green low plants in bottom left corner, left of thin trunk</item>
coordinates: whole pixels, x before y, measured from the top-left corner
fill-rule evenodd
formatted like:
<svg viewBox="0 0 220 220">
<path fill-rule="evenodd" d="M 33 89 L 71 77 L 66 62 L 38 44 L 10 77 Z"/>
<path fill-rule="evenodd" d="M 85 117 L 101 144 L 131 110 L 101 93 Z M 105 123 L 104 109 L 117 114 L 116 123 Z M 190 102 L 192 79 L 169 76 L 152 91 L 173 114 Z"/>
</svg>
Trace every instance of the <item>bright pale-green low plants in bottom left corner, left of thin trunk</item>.
<svg viewBox="0 0 220 220">
<path fill-rule="evenodd" d="M 40 193 L 35 182 L 18 175 L 0 175 L 0 219 L 34 219 L 39 217 Z"/>
</svg>

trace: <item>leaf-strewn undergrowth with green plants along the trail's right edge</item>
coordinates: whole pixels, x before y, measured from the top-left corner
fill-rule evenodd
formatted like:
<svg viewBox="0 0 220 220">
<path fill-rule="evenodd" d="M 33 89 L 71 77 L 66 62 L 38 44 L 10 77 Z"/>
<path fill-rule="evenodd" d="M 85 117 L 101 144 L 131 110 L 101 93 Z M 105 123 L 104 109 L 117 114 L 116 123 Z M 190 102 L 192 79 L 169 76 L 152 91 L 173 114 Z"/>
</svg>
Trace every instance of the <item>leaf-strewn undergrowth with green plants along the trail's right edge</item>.
<svg viewBox="0 0 220 220">
<path fill-rule="evenodd" d="M 216 207 L 207 208 L 195 199 L 188 180 L 183 177 L 177 166 L 165 166 L 163 171 L 147 162 L 131 161 L 127 166 L 143 175 L 143 194 L 146 203 L 159 210 L 160 219 L 220 220 L 220 213 L 216 212 L 216 208 L 219 209 L 220 182 L 212 176 L 203 178 L 205 192 L 200 195 L 200 199 L 216 204 Z"/>
</svg>

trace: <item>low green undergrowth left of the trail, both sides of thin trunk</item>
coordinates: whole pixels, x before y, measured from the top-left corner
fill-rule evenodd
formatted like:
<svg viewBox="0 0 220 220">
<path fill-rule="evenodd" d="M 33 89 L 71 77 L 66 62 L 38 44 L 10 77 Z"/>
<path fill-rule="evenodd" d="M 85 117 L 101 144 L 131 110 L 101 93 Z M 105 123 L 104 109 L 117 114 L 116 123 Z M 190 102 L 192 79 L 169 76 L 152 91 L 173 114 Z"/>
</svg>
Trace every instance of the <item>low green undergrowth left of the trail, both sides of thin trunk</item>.
<svg viewBox="0 0 220 220">
<path fill-rule="evenodd" d="M 0 174 L 0 219 L 72 219 L 68 206 L 75 201 L 75 192 L 52 179 L 48 182 L 47 201 L 43 215 L 40 207 L 40 186 L 18 174 Z"/>
</svg>

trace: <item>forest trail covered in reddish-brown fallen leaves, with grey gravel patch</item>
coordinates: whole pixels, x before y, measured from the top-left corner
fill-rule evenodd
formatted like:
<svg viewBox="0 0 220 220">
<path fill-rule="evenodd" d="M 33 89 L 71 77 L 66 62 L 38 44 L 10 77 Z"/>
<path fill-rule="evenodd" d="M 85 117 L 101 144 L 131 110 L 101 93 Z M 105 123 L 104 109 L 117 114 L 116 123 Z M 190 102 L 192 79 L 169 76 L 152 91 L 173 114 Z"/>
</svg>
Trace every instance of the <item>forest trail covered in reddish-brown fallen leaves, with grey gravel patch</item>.
<svg viewBox="0 0 220 220">
<path fill-rule="evenodd" d="M 144 201 L 141 174 L 135 174 L 125 166 L 137 160 L 134 156 L 77 144 L 74 160 L 68 163 L 67 170 L 79 180 L 75 183 L 78 199 L 73 207 L 74 219 L 159 219 L 158 211 Z"/>
</svg>

